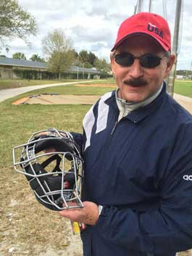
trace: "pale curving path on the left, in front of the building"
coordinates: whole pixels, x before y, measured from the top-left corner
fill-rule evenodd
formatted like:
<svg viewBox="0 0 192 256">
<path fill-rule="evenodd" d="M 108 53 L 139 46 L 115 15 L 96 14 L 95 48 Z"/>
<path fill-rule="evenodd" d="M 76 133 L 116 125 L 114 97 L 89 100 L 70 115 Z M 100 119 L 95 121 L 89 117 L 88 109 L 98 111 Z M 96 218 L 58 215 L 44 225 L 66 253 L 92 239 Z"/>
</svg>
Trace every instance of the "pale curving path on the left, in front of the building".
<svg viewBox="0 0 192 256">
<path fill-rule="evenodd" d="M 81 80 L 80 82 L 67 82 L 67 83 L 49 83 L 49 84 L 43 84 L 41 86 L 26 86 L 26 87 L 20 87 L 20 88 L 12 88 L 12 89 L 5 89 L 0 90 L 0 102 L 3 102 L 5 99 L 12 98 L 14 96 L 24 94 L 28 91 L 33 91 L 41 88 L 51 87 L 51 86 L 68 86 L 70 84 L 75 83 L 90 83 L 93 82 L 93 80 Z"/>
</svg>

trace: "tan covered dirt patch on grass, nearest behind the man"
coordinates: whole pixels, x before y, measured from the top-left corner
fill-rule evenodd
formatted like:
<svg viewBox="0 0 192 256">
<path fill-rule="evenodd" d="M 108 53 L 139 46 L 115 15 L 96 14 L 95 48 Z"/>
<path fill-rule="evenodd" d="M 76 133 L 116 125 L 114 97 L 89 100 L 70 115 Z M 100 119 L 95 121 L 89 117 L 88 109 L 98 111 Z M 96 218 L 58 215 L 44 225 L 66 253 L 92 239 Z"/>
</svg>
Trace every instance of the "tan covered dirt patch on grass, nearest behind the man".
<svg viewBox="0 0 192 256">
<path fill-rule="evenodd" d="M 90 104 L 93 105 L 101 96 L 99 95 L 51 95 L 39 94 L 25 97 L 13 102 L 19 104 Z"/>
</svg>

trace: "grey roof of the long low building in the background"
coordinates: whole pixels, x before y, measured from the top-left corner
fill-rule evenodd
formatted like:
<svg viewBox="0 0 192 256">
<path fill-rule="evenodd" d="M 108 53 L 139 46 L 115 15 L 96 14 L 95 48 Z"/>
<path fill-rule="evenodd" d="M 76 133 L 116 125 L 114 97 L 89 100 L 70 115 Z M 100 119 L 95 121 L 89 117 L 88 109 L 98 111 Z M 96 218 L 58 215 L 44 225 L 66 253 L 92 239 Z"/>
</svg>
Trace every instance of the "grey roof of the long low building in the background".
<svg viewBox="0 0 192 256">
<path fill-rule="evenodd" d="M 47 69 L 46 62 L 33 62 L 32 60 L 25 60 L 25 59 L 14 59 L 14 58 L 7 58 L 7 57 L 0 57 L 0 66 L 12 66 L 12 67 L 32 67 L 32 68 L 39 68 L 39 69 Z M 85 68 L 85 67 L 77 67 L 72 66 L 69 70 L 71 72 L 85 72 L 85 73 L 92 73 L 92 74 L 99 74 L 100 71 L 96 70 L 95 68 Z"/>
</svg>

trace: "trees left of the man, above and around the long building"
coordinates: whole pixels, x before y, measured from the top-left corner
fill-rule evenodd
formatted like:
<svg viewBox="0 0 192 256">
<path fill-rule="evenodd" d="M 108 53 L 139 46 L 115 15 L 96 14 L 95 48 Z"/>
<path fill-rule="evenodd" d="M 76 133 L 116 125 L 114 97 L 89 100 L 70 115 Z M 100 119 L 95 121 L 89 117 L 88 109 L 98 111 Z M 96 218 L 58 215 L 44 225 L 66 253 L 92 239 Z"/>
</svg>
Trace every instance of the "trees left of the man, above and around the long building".
<svg viewBox="0 0 192 256">
<path fill-rule="evenodd" d="M 36 35 L 38 25 L 34 17 L 26 12 L 16 0 L 0 1 L 0 49 L 6 47 L 9 52 L 8 41 L 13 38 L 22 38 L 30 44 L 28 36 Z M 78 67 L 96 67 L 101 73 L 108 73 L 111 69 L 106 59 L 99 59 L 93 52 L 81 50 L 79 53 L 73 49 L 71 38 L 65 36 L 63 30 L 53 30 L 42 39 L 44 57 L 33 54 L 30 60 L 47 62 L 51 72 L 61 73 L 72 65 Z M 0 55 L 6 57 L 5 55 Z M 16 59 L 27 59 L 22 52 L 12 55 Z"/>
</svg>

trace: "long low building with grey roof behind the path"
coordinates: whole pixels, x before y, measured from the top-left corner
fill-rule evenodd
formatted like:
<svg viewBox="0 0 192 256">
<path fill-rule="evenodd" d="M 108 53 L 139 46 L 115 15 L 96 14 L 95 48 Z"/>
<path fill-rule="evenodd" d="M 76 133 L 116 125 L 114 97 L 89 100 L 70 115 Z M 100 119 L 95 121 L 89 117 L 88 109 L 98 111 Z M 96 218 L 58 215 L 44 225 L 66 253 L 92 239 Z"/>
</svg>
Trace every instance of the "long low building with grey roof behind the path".
<svg viewBox="0 0 192 256">
<path fill-rule="evenodd" d="M 94 68 L 72 66 L 60 74 L 59 78 L 99 78 L 100 72 Z M 47 70 L 46 62 L 0 57 L 0 78 L 14 79 L 54 79 L 58 74 Z"/>
</svg>

